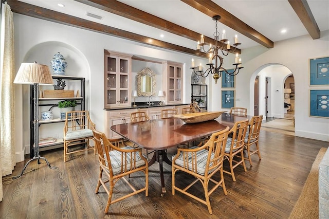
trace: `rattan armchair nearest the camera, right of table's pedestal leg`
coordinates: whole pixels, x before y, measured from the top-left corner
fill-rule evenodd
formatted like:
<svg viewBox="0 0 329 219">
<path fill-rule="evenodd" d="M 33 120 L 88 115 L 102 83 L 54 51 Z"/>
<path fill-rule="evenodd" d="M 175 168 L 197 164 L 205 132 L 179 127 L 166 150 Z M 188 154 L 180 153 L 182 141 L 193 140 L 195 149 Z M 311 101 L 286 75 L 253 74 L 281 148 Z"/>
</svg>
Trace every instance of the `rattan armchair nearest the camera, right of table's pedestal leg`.
<svg viewBox="0 0 329 219">
<path fill-rule="evenodd" d="M 172 194 L 175 195 L 175 190 L 177 190 L 207 205 L 209 214 L 212 214 L 209 196 L 220 186 L 223 188 L 224 194 L 227 195 L 223 176 L 223 160 L 228 132 L 229 127 L 226 127 L 223 131 L 213 133 L 209 141 L 202 147 L 195 146 L 190 149 L 178 148 L 177 154 L 172 157 Z M 186 180 L 192 180 L 190 185 L 185 188 L 179 188 L 178 185 L 180 184 L 175 184 L 175 179 L 178 176 L 183 177 L 183 175 L 176 176 L 178 171 L 191 175 L 189 178 L 184 175 Z M 219 180 L 218 175 L 216 175 L 216 180 L 212 178 L 217 172 L 220 173 Z M 188 192 L 198 181 L 202 184 L 206 200 L 197 197 L 195 192 L 193 194 Z M 215 185 L 209 190 L 208 185 L 210 181 Z M 200 189 L 201 187 L 194 188 Z"/>
</svg>

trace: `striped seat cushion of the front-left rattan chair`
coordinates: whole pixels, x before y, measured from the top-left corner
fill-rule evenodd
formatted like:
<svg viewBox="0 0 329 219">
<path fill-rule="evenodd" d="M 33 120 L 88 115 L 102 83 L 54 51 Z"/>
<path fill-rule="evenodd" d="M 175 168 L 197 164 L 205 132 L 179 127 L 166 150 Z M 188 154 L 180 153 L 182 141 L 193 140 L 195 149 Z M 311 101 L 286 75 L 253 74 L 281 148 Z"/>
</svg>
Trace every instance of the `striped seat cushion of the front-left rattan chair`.
<svg viewBox="0 0 329 219">
<path fill-rule="evenodd" d="M 130 147 L 130 146 L 126 146 L 126 147 L 123 147 L 121 148 L 123 150 L 134 150 L 133 147 Z M 109 157 L 111 159 L 111 166 L 112 166 L 112 171 L 113 171 L 113 175 L 116 175 L 116 174 L 119 174 L 121 173 L 121 167 L 122 167 L 122 160 L 121 160 L 121 152 L 119 151 L 116 151 L 116 150 L 113 150 L 113 151 L 110 151 L 109 153 Z M 131 168 L 131 153 L 127 153 L 126 154 L 127 157 L 126 157 L 126 171 L 129 171 L 130 168 Z M 104 157 L 106 157 L 106 155 L 104 154 Z M 123 156 L 124 158 L 124 156 Z M 134 157 L 133 157 L 134 159 Z M 107 163 L 106 163 L 107 165 Z M 123 164 L 124 165 L 124 164 Z M 133 167 L 133 168 L 139 168 L 141 166 L 144 166 L 145 165 L 145 161 L 139 156 L 139 153 L 136 153 L 136 160 L 135 160 L 135 165 L 136 167 Z M 125 169 L 125 167 L 122 168 L 123 171 Z"/>
</svg>

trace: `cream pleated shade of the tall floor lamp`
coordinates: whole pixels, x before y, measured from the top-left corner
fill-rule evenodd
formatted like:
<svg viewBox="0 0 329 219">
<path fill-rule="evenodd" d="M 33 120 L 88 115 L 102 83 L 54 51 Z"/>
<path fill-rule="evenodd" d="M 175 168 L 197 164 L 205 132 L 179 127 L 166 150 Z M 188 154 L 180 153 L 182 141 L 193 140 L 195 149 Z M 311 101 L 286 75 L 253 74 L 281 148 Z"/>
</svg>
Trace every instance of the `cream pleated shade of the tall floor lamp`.
<svg viewBox="0 0 329 219">
<path fill-rule="evenodd" d="M 22 63 L 14 84 L 53 84 L 53 81 L 47 65 Z"/>
</svg>

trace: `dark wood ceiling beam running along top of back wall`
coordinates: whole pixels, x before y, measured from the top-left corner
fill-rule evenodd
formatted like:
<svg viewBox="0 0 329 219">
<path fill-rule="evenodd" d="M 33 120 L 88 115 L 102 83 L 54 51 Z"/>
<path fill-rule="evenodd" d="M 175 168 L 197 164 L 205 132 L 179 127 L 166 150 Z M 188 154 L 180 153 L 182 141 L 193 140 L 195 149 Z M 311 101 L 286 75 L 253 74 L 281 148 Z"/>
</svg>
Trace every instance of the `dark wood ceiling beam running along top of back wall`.
<svg viewBox="0 0 329 219">
<path fill-rule="evenodd" d="M 41 8 L 38 6 L 30 5 L 24 2 L 16 0 L 7 0 L 7 3 L 10 5 L 10 8 L 13 12 L 24 14 L 31 17 L 36 17 L 38 19 L 43 19 L 46 21 L 56 22 L 60 24 L 65 24 L 72 27 L 78 27 L 90 31 L 95 31 L 107 35 L 116 36 L 126 40 L 135 41 L 138 43 L 143 43 L 151 46 L 156 46 L 159 48 L 169 49 L 173 51 L 183 52 L 187 54 L 192 54 L 193 56 L 198 57 L 207 57 L 207 54 L 204 52 L 199 52 L 194 49 L 178 46 L 175 44 L 163 42 L 160 40 L 152 39 L 147 36 L 139 35 L 129 31 L 121 30 L 118 28 L 106 26 L 96 22 L 87 21 L 80 19 L 79 17 L 67 15 L 57 11 L 52 11 L 49 9 Z"/>
</svg>

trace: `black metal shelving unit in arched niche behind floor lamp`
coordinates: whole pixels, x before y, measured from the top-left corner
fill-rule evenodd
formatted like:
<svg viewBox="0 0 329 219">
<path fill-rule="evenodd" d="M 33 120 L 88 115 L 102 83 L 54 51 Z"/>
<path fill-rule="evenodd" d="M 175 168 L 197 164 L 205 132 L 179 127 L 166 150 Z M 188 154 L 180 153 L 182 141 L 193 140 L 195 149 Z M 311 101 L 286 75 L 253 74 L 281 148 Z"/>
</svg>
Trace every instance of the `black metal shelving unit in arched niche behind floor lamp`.
<svg viewBox="0 0 329 219">
<path fill-rule="evenodd" d="M 42 108 L 44 109 L 48 109 L 48 111 L 50 111 L 53 107 L 57 107 L 58 102 L 62 101 L 62 100 L 76 100 L 77 101 L 77 106 L 75 107 L 76 110 L 85 110 L 85 78 L 82 77 L 71 77 L 71 76 L 52 76 L 52 79 L 56 80 L 56 79 L 61 79 L 63 81 L 66 82 L 66 84 L 70 84 L 70 83 L 79 83 L 80 84 L 80 90 L 79 90 L 79 97 L 76 96 L 76 93 L 78 92 L 78 90 L 74 91 L 75 95 L 74 97 L 43 97 L 42 96 L 42 92 L 41 92 L 41 97 L 39 97 L 39 113 L 42 113 Z M 34 155 L 34 103 L 33 103 L 33 99 L 34 99 L 34 89 L 35 85 L 30 85 L 30 94 L 31 94 L 31 101 L 30 101 L 30 157 L 32 158 Z M 70 86 L 72 86 L 72 84 L 70 84 Z M 39 116 L 40 117 L 40 116 Z M 41 117 L 40 117 L 41 118 Z M 39 125 L 47 125 L 47 130 L 52 129 L 54 123 L 60 123 L 60 122 L 65 122 L 65 119 L 61 119 L 60 118 L 60 114 L 56 115 L 53 114 L 53 119 L 52 120 L 42 120 L 40 119 L 39 121 Z M 64 126 L 64 123 L 63 123 Z M 53 135 L 55 135 L 54 133 L 62 133 L 62 130 L 57 130 L 54 131 L 53 130 Z M 39 129 L 39 136 L 44 136 L 44 134 L 42 133 L 42 129 Z M 54 137 L 54 136 L 47 136 L 47 137 Z M 57 134 L 56 134 L 57 135 Z M 51 147 L 49 149 L 52 149 L 53 146 L 58 145 L 58 144 L 63 144 L 63 138 L 56 138 L 54 139 L 54 142 L 49 142 L 49 143 L 44 143 L 41 145 L 40 142 L 40 151 L 42 150 L 48 150 L 46 149 L 46 147 Z"/>
</svg>

